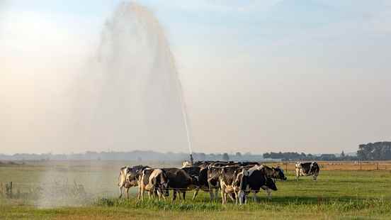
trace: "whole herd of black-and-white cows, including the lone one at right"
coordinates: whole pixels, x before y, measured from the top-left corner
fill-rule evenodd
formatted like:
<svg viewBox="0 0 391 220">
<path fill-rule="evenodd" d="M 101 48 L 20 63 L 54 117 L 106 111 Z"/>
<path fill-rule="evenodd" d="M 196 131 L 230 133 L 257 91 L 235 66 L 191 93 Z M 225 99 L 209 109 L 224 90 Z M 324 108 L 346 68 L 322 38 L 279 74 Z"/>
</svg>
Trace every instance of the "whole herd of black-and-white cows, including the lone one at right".
<svg viewBox="0 0 391 220">
<path fill-rule="evenodd" d="M 297 180 L 300 176 L 308 175 L 317 180 L 319 165 L 316 162 L 296 163 L 295 171 Z M 256 201 L 256 194 L 261 189 L 271 198 L 271 192 L 277 190 L 276 180 L 287 180 L 280 167 L 268 167 L 256 162 L 198 161 L 193 165 L 184 162 L 181 168 L 121 167 L 118 187 L 120 197 L 125 189 L 128 198 L 130 187 L 138 187 L 137 199 L 141 200 L 145 192 L 149 198 L 166 199 L 170 191 L 173 201 L 177 195 L 185 199 L 188 191 L 194 191 L 195 199 L 202 190 L 210 194 L 211 200 L 217 199 L 220 191 L 222 204 L 227 202 L 227 197 L 236 204 L 245 204 L 250 193 Z"/>
</svg>

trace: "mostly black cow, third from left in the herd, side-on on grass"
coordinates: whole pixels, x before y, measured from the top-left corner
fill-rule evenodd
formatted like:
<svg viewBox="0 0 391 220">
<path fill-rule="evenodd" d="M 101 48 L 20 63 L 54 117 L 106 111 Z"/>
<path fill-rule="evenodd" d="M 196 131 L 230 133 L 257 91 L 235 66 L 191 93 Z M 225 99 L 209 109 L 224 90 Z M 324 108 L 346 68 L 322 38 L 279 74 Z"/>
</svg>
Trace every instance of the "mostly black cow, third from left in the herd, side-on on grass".
<svg viewBox="0 0 391 220">
<path fill-rule="evenodd" d="M 163 168 L 162 170 L 168 178 L 168 185 L 165 190 L 165 195 L 168 197 L 169 189 L 172 189 L 173 201 L 175 201 L 177 193 L 182 193 L 184 200 L 186 199 L 186 191 L 198 188 L 197 178 L 191 177 L 191 175 L 188 175 L 185 170 L 179 168 Z"/>
</svg>

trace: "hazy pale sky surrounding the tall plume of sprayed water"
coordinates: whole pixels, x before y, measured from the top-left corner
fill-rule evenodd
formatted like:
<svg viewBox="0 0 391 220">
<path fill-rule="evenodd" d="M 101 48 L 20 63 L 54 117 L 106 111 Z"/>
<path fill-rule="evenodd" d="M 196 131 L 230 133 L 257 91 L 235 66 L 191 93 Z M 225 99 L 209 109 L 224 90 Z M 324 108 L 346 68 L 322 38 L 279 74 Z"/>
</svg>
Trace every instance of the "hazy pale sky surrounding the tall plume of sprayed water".
<svg viewBox="0 0 391 220">
<path fill-rule="evenodd" d="M 108 150 L 37 134 L 62 126 L 73 70 L 119 2 L 0 0 L 0 153 Z M 136 2 L 166 31 L 194 151 L 340 153 L 390 140 L 390 1 Z"/>
</svg>

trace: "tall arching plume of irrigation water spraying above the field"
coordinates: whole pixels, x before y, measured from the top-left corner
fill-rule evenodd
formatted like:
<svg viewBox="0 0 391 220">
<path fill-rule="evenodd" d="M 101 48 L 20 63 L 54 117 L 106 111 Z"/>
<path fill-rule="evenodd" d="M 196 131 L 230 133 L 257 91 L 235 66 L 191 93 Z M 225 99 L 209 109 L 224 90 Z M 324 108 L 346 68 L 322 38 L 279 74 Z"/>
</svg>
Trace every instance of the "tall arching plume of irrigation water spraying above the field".
<svg viewBox="0 0 391 220">
<path fill-rule="evenodd" d="M 167 151 L 186 143 L 191 154 L 181 81 L 153 13 L 132 2 L 120 4 L 103 27 L 96 57 L 81 82 L 90 89 L 77 99 L 87 145 Z"/>
</svg>

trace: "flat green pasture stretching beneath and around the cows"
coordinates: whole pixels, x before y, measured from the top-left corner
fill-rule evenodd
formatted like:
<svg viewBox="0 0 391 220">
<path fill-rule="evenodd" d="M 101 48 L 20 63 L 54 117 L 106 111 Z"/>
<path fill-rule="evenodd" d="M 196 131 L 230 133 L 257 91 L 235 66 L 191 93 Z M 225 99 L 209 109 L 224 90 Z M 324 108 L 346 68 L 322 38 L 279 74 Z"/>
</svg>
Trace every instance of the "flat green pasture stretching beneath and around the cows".
<svg viewBox="0 0 391 220">
<path fill-rule="evenodd" d="M 391 219 L 391 165 L 380 169 L 353 169 L 353 163 L 319 163 L 317 182 L 311 177 L 295 180 L 288 167 L 288 181 L 277 181 L 272 199 L 260 192 L 258 201 L 238 206 L 221 199 L 209 201 L 200 192 L 191 201 L 171 202 L 118 199 L 119 168 L 125 161 L 26 162 L 0 165 L 0 182 L 13 182 L 13 197 L 0 192 L 0 219 Z M 154 167 L 180 164 L 144 163 Z M 369 167 L 369 164 L 367 164 Z M 388 165 L 388 167 L 387 167 Z M 283 166 L 283 165 L 281 165 Z M 285 168 L 283 166 L 283 168 Z M 172 195 L 172 194 L 171 194 Z"/>
</svg>

